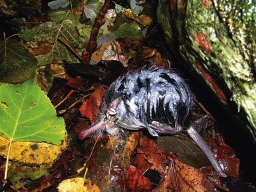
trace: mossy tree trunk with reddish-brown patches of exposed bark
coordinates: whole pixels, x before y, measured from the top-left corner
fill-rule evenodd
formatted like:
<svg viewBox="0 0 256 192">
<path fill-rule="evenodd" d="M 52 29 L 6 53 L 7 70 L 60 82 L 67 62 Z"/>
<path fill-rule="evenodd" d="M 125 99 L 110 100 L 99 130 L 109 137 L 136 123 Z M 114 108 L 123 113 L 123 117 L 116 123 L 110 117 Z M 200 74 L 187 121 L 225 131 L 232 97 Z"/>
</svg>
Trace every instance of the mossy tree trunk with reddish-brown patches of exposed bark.
<svg viewBox="0 0 256 192">
<path fill-rule="evenodd" d="M 217 98 L 220 110 L 255 144 L 253 9 L 249 1 L 160 0 L 158 22 L 175 59 L 201 80 L 209 97 Z"/>
</svg>

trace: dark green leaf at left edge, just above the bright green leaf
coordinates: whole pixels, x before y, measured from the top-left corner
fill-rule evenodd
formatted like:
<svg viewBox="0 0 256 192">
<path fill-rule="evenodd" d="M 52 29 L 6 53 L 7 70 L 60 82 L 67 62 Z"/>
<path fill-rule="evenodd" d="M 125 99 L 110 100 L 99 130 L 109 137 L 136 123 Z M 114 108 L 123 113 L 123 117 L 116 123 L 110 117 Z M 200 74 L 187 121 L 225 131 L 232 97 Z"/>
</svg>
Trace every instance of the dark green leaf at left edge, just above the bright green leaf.
<svg viewBox="0 0 256 192">
<path fill-rule="evenodd" d="M 33 78 L 36 62 L 19 41 L 0 41 L 0 82 L 21 83 Z"/>
</svg>

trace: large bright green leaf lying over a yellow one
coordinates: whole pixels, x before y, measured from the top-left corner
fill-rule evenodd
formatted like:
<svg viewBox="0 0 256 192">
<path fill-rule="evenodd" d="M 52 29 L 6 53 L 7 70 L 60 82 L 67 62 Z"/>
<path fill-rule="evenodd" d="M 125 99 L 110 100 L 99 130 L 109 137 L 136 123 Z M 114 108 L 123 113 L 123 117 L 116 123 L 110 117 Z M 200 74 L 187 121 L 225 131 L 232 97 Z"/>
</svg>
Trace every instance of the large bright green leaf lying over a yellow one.
<svg viewBox="0 0 256 192">
<path fill-rule="evenodd" d="M 61 144 L 66 132 L 63 118 L 32 80 L 19 86 L 0 86 L 0 135 L 11 141 Z"/>
</svg>

